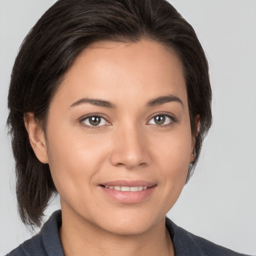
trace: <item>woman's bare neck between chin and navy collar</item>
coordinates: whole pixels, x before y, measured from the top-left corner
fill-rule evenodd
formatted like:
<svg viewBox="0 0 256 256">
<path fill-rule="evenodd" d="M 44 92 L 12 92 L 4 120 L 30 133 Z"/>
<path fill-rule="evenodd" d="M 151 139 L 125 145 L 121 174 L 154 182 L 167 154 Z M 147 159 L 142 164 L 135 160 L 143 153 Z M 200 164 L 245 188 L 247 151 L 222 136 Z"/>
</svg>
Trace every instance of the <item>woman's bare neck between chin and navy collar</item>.
<svg viewBox="0 0 256 256">
<path fill-rule="evenodd" d="M 59 234 L 65 256 L 174 255 L 165 218 L 143 233 L 120 235 L 108 232 L 81 217 L 72 218 L 62 211 Z"/>
</svg>

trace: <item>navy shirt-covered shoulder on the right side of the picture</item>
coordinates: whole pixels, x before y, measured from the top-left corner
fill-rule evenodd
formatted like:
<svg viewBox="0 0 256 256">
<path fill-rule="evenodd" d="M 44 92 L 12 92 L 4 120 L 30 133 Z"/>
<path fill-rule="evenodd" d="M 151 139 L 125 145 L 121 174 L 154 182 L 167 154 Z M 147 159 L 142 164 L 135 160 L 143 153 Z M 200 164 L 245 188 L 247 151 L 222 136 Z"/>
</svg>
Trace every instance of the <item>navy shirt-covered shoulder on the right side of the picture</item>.
<svg viewBox="0 0 256 256">
<path fill-rule="evenodd" d="M 202 237 L 194 235 L 175 225 L 166 217 L 165 225 L 170 233 L 176 256 L 245 256 Z"/>
</svg>

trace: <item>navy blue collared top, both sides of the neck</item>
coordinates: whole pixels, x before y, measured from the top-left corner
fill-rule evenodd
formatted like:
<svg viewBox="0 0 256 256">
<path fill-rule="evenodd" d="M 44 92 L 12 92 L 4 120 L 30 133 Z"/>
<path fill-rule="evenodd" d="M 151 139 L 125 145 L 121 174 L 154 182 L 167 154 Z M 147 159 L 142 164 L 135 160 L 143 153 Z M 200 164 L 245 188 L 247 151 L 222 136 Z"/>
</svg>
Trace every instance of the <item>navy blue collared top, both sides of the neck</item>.
<svg viewBox="0 0 256 256">
<path fill-rule="evenodd" d="M 64 256 L 58 234 L 61 223 L 61 210 L 57 210 L 44 223 L 37 235 L 5 256 Z M 175 256 L 245 256 L 189 233 L 167 217 L 165 225 L 174 245 Z"/>
</svg>

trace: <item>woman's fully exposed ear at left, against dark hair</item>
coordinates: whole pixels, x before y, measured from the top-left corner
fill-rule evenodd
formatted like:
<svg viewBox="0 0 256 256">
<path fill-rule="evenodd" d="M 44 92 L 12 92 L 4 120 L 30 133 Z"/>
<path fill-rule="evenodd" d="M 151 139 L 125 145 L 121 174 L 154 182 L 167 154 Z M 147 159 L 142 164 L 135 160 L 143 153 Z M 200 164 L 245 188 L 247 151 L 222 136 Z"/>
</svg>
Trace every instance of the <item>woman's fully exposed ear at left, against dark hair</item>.
<svg viewBox="0 0 256 256">
<path fill-rule="evenodd" d="M 30 145 L 32 146 L 36 157 L 40 162 L 48 163 L 45 135 L 41 126 L 35 120 L 32 112 L 27 112 L 24 114 L 24 123 L 28 133 Z"/>
</svg>

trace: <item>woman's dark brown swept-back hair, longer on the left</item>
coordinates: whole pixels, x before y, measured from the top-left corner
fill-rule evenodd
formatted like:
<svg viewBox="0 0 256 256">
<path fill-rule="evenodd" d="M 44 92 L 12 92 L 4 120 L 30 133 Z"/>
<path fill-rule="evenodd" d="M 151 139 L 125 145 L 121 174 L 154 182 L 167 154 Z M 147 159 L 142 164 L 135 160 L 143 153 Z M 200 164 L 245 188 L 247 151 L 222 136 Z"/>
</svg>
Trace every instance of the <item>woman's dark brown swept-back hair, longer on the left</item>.
<svg viewBox="0 0 256 256">
<path fill-rule="evenodd" d="M 191 133 L 200 115 L 194 161 L 211 125 L 208 64 L 190 24 L 165 0 L 58 0 L 25 37 L 9 87 L 7 124 L 16 161 L 16 195 L 21 220 L 39 226 L 49 198 L 56 193 L 48 164 L 35 156 L 23 116 L 33 112 L 45 130 L 49 103 L 77 55 L 99 40 L 155 40 L 173 49 L 185 74 Z"/>
</svg>

